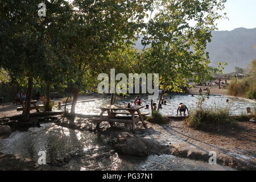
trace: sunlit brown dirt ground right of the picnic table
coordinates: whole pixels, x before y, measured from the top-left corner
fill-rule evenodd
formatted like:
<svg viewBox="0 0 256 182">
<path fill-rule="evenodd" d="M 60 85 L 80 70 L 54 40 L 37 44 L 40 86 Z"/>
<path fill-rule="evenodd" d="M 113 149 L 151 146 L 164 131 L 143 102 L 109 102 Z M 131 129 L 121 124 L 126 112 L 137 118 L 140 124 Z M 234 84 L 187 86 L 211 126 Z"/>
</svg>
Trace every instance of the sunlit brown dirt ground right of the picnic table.
<svg viewBox="0 0 256 182">
<path fill-rule="evenodd" d="M 147 125 L 149 129 L 139 135 L 168 144 L 172 155 L 208 162 L 209 151 L 215 151 L 218 164 L 256 169 L 255 123 L 236 122 L 211 132 L 193 130 L 184 121 Z"/>
</svg>

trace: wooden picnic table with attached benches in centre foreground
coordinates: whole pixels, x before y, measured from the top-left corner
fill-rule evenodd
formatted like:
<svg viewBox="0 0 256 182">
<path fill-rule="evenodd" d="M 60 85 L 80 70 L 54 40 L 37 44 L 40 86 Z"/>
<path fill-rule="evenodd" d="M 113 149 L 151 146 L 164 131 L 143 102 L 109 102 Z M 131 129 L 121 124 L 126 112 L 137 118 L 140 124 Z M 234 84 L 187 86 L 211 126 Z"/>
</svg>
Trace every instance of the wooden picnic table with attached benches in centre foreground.
<svg viewBox="0 0 256 182">
<path fill-rule="evenodd" d="M 144 117 L 141 114 L 141 111 L 139 109 L 142 109 L 144 106 L 132 106 L 128 107 L 127 105 L 102 105 L 99 107 L 101 110 L 100 118 L 92 118 L 90 119 L 94 123 L 97 123 L 96 129 L 100 127 L 100 123 L 102 121 L 108 121 L 109 123 L 131 123 L 131 130 L 134 132 L 135 123 L 141 121 L 143 126 L 146 128 L 146 123 L 144 122 Z M 129 112 L 126 112 L 125 114 L 131 114 L 131 119 L 117 119 L 115 117 L 116 114 L 122 114 L 117 113 L 118 110 L 126 110 Z M 103 114 L 105 111 L 108 111 L 108 116 L 104 117 Z M 137 112 L 138 117 L 135 116 L 135 112 Z M 111 125 L 111 124 L 110 124 Z"/>
</svg>

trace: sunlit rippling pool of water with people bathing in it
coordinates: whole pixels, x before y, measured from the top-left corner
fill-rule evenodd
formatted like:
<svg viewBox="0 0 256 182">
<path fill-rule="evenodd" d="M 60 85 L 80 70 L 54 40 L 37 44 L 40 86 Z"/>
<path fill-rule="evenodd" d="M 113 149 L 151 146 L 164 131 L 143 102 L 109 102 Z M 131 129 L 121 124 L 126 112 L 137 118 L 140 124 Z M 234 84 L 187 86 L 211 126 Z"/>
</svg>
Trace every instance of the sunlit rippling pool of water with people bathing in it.
<svg viewBox="0 0 256 182">
<path fill-rule="evenodd" d="M 189 111 L 196 109 L 198 97 L 192 97 L 191 95 L 168 95 L 164 96 L 164 99 L 167 101 L 167 105 L 162 105 L 163 109 L 160 109 L 160 113 L 164 115 L 176 115 L 177 107 L 182 102 L 187 105 Z M 135 96 L 129 96 L 127 98 L 120 97 L 120 99 L 115 100 L 115 104 L 124 104 L 127 105 L 133 101 Z M 141 96 L 142 104 L 150 105 L 150 100 L 147 95 Z M 226 102 L 226 100 L 229 102 Z M 154 102 L 158 104 L 159 98 L 155 99 Z M 79 102 L 76 105 L 76 113 L 79 114 L 100 114 L 100 110 L 97 108 L 98 106 L 110 104 L 110 98 L 104 98 L 102 100 L 89 101 L 89 102 Z M 70 109 L 71 105 L 68 105 L 67 108 Z M 246 113 L 246 107 L 250 107 L 253 111 L 256 108 L 255 102 L 249 102 L 247 100 L 242 100 L 238 98 L 225 97 L 225 96 L 209 96 L 209 100 L 205 100 L 203 107 L 209 108 L 230 108 L 230 114 L 232 115 L 240 115 L 241 113 Z M 151 109 L 141 109 L 141 111 L 145 111 L 151 113 Z"/>
</svg>

